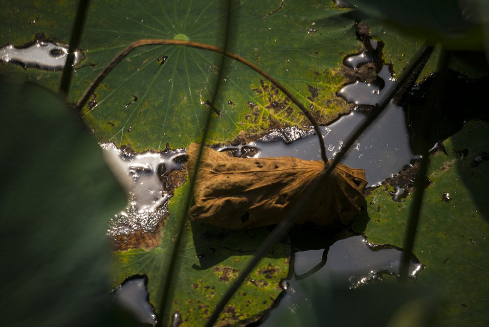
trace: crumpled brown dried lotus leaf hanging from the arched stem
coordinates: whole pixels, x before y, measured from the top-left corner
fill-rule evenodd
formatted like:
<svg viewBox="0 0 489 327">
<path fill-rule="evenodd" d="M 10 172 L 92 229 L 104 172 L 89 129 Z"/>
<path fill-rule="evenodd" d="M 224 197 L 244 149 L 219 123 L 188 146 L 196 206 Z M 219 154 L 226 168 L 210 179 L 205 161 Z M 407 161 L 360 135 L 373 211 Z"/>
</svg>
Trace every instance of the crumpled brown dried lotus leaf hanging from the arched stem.
<svg viewBox="0 0 489 327">
<path fill-rule="evenodd" d="M 199 144 L 187 149 L 189 173 L 195 171 Z M 229 229 L 277 224 L 315 179 L 324 179 L 311 205 L 296 218 L 327 226 L 348 224 L 364 207 L 365 171 L 338 164 L 324 178 L 324 163 L 291 157 L 234 158 L 204 147 L 194 187 L 191 220 Z"/>
</svg>

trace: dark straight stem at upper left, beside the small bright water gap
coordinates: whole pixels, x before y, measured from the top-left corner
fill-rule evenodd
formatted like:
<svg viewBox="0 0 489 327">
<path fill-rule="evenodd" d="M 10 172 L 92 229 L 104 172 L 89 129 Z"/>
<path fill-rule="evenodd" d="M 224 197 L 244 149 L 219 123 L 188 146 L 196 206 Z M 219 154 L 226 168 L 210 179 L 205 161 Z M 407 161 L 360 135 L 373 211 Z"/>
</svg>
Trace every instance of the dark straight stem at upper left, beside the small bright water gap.
<svg viewBox="0 0 489 327">
<path fill-rule="evenodd" d="M 89 8 L 90 0 L 80 0 L 78 3 L 78 9 L 76 11 L 75 22 L 73 23 L 73 29 L 71 30 L 71 37 L 69 39 L 68 54 L 66 58 L 65 68 L 63 68 L 63 74 L 60 82 L 60 93 L 65 97 L 68 96 L 69 87 L 71 83 L 71 75 L 73 73 L 73 63 L 75 61 L 75 50 L 80 44 L 82 37 L 83 27 L 87 18 L 87 11 Z"/>
</svg>

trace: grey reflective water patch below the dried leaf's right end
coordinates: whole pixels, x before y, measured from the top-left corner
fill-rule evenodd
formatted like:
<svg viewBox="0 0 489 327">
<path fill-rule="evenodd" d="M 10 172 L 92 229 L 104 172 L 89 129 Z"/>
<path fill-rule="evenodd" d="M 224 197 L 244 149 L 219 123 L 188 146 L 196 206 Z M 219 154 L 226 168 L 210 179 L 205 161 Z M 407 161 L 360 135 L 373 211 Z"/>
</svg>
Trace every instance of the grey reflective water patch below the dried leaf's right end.
<svg viewBox="0 0 489 327">
<path fill-rule="evenodd" d="M 327 254 L 325 254 L 325 251 Z M 401 251 L 396 249 L 372 250 L 363 236 L 352 236 L 331 245 L 329 251 L 309 250 L 295 253 L 293 275 L 288 280 L 288 288 L 280 300 L 280 305 L 272 309 L 261 326 L 277 326 L 286 313 L 300 315 L 315 303 L 317 293 L 310 292 L 303 277 L 315 267 L 324 263 L 313 274 L 314 282 L 331 284 L 335 287 L 358 288 L 374 280 L 381 280 L 383 274 L 396 275 L 399 270 Z M 327 260 L 326 260 L 327 257 Z M 411 261 L 411 276 L 422 270 L 422 265 Z M 321 296 L 325 296 L 321 294 Z M 327 317 L 322 317 L 327 319 Z"/>
</svg>

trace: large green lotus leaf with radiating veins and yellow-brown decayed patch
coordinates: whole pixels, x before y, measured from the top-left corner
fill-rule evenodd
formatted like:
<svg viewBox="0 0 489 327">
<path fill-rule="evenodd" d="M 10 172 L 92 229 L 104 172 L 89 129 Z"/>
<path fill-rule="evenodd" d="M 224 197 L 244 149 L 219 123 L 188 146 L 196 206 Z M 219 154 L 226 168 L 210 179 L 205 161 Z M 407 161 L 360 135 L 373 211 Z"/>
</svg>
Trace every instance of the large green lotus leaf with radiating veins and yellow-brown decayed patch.
<svg viewBox="0 0 489 327">
<path fill-rule="evenodd" d="M 42 1 L 41 1 L 42 2 Z M 350 9 L 324 1 L 231 1 L 228 50 L 266 71 L 299 101 L 311 108 L 319 123 L 328 123 L 349 106 L 336 97 L 345 82 L 340 73 L 345 54 L 358 51 Z M 1 19 L 3 43 L 32 41 L 35 33 L 67 42 L 66 23 L 76 5 L 51 9 L 23 4 L 18 16 L 9 4 Z M 78 99 L 89 83 L 125 47 L 140 39 L 188 39 L 223 47 L 225 1 L 92 1 L 81 48 L 86 59 L 73 75 L 70 94 Z M 28 13 L 22 13 L 22 11 Z M 41 17 L 29 24 L 27 18 Z M 16 26 L 16 29 L 13 27 Z M 25 27 L 25 28 L 24 28 Z M 63 32 L 61 32 L 63 29 Z M 162 58 L 167 56 L 162 63 Z M 220 55 L 184 46 L 146 46 L 133 50 L 95 90 L 84 116 L 103 141 L 129 144 L 135 150 L 182 147 L 198 140 L 209 110 L 220 66 Z M 57 87 L 59 73 L 5 65 L 10 75 Z M 51 77 L 50 77 L 51 76 Z M 52 77 L 52 76 L 56 76 Z M 137 101 L 135 101 L 137 99 Z M 240 132 L 260 135 L 285 125 L 310 125 L 266 78 L 228 59 L 217 102 L 210 141 L 229 141 Z M 83 109 L 86 113 L 88 107 Z"/>
</svg>

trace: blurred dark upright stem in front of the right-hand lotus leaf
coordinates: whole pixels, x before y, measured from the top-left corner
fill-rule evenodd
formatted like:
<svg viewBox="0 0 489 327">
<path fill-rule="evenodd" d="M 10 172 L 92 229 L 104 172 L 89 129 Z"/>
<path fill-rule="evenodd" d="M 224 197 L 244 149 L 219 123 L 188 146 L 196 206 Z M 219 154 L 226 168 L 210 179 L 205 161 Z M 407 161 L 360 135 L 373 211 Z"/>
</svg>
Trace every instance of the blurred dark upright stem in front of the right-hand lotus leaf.
<svg viewBox="0 0 489 327">
<path fill-rule="evenodd" d="M 405 281 L 409 275 L 409 262 L 414 248 L 414 241 L 416 237 L 416 231 L 418 229 L 418 223 L 420 220 L 420 213 L 422 209 L 424 188 L 428 182 L 428 163 L 429 163 L 429 149 L 433 144 L 429 143 L 431 126 L 434 123 L 435 108 L 438 104 L 438 99 L 443 91 L 445 81 L 445 68 L 447 65 L 447 55 L 444 50 L 440 54 L 438 60 L 438 74 L 433 82 L 432 89 L 428 93 L 426 103 L 422 112 L 421 123 L 421 162 L 418 169 L 418 175 L 414 182 L 415 191 L 413 193 L 413 203 L 409 208 L 409 217 L 406 226 L 406 237 L 404 239 L 404 250 L 402 252 L 400 267 L 399 267 L 399 279 Z"/>
</svg>

